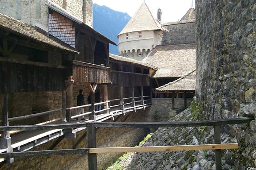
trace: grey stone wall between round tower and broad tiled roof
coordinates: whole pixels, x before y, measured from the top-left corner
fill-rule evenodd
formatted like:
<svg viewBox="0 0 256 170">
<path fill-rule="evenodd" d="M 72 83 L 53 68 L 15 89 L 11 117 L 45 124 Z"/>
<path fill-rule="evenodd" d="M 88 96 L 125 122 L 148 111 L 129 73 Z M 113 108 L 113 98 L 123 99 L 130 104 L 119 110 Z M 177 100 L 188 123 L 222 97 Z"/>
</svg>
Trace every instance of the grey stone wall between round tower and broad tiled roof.
<svg viewBox="0 0 256 170">
<path fill-rule="evenodd" d="M 181 23 L 163 26 L 161 45 L 186 44 L 196 42 L 196 23 Z"/>
</svg>

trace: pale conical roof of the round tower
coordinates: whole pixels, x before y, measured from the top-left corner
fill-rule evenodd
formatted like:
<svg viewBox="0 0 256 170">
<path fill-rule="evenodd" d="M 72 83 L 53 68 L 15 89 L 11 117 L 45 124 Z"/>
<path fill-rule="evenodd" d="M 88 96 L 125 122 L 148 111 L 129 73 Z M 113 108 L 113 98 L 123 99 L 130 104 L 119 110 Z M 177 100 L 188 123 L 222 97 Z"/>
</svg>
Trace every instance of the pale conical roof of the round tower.
<svg viewBox="0 0 256 170">
<path fill-rule="evenodd" d="M 144 2 L 141 4 L 135 15 L 126 24 L 124 29 L 119 33 L 119 35 L 128 32 L 148 30 L 162 30 L 162 28 L 159 21 L 152 15 L 148 5 Z"/>
</svg>

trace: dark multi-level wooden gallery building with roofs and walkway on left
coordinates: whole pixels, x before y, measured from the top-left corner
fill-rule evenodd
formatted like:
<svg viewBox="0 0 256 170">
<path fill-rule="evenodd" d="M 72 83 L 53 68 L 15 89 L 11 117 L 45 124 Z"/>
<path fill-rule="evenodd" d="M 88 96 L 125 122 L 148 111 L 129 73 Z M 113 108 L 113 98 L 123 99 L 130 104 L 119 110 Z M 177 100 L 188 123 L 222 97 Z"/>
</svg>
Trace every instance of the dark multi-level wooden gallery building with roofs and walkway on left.
<svg viewBox="0 0 256 170">
<path fill-rule="evenodd" d="M 156 68 L 109 55 L 109 43 L 114 42 L 57 9 L 49 12 L 48 28 L 45 32 L 0 14 L 2 126 L 102 122 L 151 106 L 149 74 Z M 77 106 L 80 89 L 85 105 Z M 97 89 L 102 100 L 96 103 Z M 100 110 L 97 105 L 102 105 Z M 84 112 L 77 114 L 80 108 Z M 80 117 L 84 120 L 76 120 Z M 76 138 L 84 129 L 1 131 L 0 153 L 28 151 L 59 137 Z"/>
</svg>

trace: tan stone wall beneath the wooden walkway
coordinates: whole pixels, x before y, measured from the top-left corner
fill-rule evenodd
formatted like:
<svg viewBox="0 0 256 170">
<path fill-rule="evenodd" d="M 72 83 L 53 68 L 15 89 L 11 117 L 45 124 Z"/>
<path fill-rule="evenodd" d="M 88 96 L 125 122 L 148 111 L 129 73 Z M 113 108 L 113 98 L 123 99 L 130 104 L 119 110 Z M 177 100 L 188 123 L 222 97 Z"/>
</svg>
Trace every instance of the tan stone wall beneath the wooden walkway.
<svg viewBox="0 0 256 170">
<path fill-rule="evenodd" d="M 128 117 L 126 122 L 145 121 L 148 109 L 138 110 Z M 128 114 L 127 114 L 128 116 Z M 118 121 L 124 120 L 122 116 Z M 76 139 L 63 139 L 54 149 L 70 149 L 81 138 L 86 130 L 77 133 Z M 96 132 L 97 147 L 132 147 L 137 145 L 145 135 L 149 133 L 144 128 L 99 128 Z M 40 145 L 31 151 L 47 150 L 56 139 Z M 87 136 L 85 136 L 78 147 L 87 147 Z M 120 157 L 122 153 L 98 154 L 98 169 L 102 170 Z M 88 170 L 87 156 L 83 155 L 60 155 L 48 157 L 16 158 L 12 164 L 4 164 L 0 170 Z"/>
</svg>

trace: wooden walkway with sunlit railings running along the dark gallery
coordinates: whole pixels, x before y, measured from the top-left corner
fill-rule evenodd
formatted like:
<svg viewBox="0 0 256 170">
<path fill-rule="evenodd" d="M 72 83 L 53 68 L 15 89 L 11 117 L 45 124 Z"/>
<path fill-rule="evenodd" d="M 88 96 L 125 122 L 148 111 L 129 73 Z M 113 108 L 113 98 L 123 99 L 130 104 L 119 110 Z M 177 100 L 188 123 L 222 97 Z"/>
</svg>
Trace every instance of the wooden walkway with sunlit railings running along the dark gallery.
<svg viewBox="0 0 256 170">
<path fill-rule="evenodd" d="M 112 103 L 120 102 L 120 104 L 111 105 Z M 95 111 L 94 107 L 96 105 L 103 105 L 104 108 Z M 48 114 L 54 114 L 56 112 L 62 111 L 62 117 L 56 118 L 54 120 L 49 120 L 47 122 L 42 122 L 36 125 L 45 125 L 45 124 L 60 124 L 60 123 L 72 123 L 72 124 L 80 124 L 80 123 L 88 123 L 88 122 L 103 122 L 105 120 L 115 120 L 115 116 L 122 116 L 128 112 L 136 112 L 136 110 L 145 109 L 151 106 L 151 96 L 140 96 L 140 97 L 128 97 L 121 99 L 113 99 L 100 103 L 95 103 L 92 107 L 92 104 L 86 104 L 83 106 L 77 106 L 72 108 L 60 108 L 56 110 L 51 110 L 47 112 L 41 112 L 26 116 L 19 116 L 8 118 L 8 121 L 16 121 L 16 120 L 26 120 L 31 117 L 43 116 Z M 81 113 L 77 115 L 77 109 L 84 108 L 88 112 Z M 84 120 L 76 120 L 84 116 Z M 90 119 L 90 116 L 93 117 L 93 120 Z M 36 126 L 35 125 L 35 126 Z M 52 139 L 56 139 L 60 136 L 64 136 L 67 138 L 75 138 L 76 132 L 82 131 L 86 129 L 86 127 L 80 128 L 56 128 L 52 130 L 40 130 L 40 131 L 6 131 L 6 134 L 10 134 L 11 137 L 11 148 L 14 152 L 24 152 L 32 149 L 33 147 L 39 146 L 41 144 L 47 143 Z M 6 137 L 8 138 L 8 137 Z M 1 149 L 0 153 L 4 153 L 8 151 L 7 149 Z M 1 160 L 1 162 L 4 159 Z M 12 160 L 10 160 L 12 162 Z"/>
</svg>

